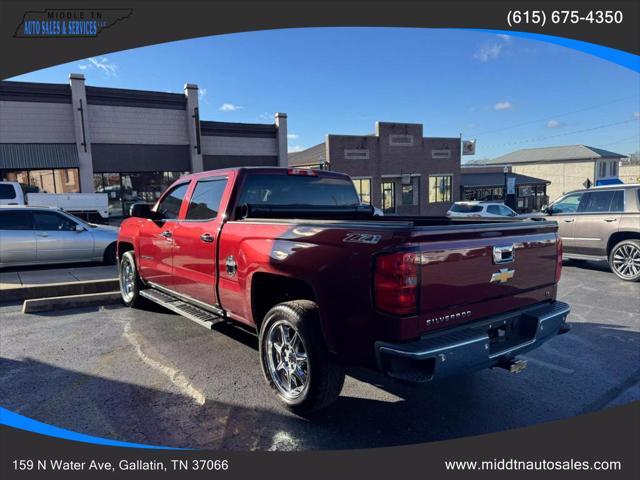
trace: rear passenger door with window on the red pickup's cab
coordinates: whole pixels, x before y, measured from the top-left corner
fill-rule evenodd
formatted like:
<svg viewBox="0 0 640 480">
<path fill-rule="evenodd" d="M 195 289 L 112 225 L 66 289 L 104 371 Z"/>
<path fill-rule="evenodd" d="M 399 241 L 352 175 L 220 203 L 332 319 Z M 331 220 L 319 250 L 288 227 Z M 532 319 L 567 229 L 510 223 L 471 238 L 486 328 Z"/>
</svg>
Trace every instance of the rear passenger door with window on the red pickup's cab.
<svg viewBox="0 0 640 480">
<path fill-rule="evenodd" d="M 174 290 L 207 305 L 218 305 L 217 245 L 223 221 L 227 175 L 198 178 L 173 230 Z"/>
</svg>

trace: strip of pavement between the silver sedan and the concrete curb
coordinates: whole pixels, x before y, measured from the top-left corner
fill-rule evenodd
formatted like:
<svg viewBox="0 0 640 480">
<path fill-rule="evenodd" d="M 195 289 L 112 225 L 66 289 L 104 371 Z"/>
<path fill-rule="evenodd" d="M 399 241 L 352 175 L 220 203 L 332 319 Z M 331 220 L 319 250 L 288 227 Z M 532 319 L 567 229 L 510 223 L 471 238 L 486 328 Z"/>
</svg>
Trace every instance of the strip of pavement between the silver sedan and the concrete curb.
<svg viewBox="0 0 640 480">
<path fill-rule="evenodd" d="M 0 270 L 0 290 L 50 283 L 90 282 L 118 278 L 115 265 L 68 266 L 47 269 L 15 268 Z"/>
</svg>

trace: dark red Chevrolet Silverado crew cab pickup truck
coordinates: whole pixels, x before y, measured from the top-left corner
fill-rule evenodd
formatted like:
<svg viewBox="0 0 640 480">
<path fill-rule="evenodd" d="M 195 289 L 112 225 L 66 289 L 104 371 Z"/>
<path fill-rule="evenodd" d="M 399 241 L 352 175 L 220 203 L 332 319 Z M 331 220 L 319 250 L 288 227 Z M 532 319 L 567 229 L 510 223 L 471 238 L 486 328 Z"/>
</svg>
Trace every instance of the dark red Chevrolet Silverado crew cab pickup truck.
<svg viewBox="0 0 640 480">
<path fill-rule="evenodd" d="M 344 366 L 427 382 L 569 330 L 555 222 L 374 216 L 342 174 L 237 168 L 182 177 L 136 204 L 118 239 L 124 302 L 259 336 L 291 410 L 322 408 Z"/>
</svg>

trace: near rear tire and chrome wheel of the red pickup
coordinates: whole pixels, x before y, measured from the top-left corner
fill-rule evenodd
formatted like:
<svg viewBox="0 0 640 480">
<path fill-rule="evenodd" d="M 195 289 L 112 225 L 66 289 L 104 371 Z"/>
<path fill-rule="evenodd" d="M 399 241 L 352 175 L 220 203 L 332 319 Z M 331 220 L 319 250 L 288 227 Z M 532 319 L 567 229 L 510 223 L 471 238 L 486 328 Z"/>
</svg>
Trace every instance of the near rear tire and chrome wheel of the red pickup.
<svg viewBox="0 0 640 480">
<path fill-rule="evenodd" d="M 324 342 L 318 306 L 309 300 L 269 310 L 260 328 L 260 360 L 269 386 L 299 415 L 327 407 L 344 385 L 344 370 Z"/>
</svg>

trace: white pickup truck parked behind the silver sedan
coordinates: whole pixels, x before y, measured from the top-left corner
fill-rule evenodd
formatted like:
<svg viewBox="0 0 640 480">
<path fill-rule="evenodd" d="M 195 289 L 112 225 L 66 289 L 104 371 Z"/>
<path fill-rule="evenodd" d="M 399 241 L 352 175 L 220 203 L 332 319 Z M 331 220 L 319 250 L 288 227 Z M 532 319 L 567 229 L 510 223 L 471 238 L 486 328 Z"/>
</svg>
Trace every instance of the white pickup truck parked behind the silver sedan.
<svg viewBox="0 0 640 480">
<path fill-rule="evenodd" d="M 0 182 L 0 205 L 56 207 L 88 222 L 106 223 L 108 203 L 106 193 L 40 193 L 18 182 Z"/>
</svg>

